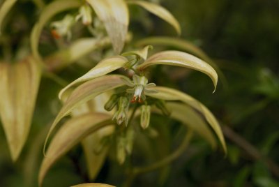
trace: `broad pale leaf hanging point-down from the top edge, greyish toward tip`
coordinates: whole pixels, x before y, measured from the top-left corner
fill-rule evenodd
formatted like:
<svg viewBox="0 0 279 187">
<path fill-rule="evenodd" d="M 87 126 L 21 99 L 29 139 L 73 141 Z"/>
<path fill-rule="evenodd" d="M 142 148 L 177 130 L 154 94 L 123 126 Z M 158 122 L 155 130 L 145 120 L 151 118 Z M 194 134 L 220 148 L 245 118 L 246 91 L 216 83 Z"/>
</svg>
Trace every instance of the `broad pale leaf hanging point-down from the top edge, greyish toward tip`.
<svg viewBox="0 0 279 187">
<path fill-rule="evenodd" d="M 128 32 L 129 13 L 123 0 L 86 0 L 105 24 L 116 54 L 123 49 Z"/>
</svg>

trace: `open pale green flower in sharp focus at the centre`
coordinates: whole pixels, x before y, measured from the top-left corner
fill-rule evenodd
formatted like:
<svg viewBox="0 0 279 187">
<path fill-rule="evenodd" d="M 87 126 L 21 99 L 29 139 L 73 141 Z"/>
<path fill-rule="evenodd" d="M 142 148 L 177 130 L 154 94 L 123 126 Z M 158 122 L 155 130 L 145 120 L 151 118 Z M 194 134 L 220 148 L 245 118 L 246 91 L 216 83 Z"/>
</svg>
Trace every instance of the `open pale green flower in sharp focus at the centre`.
<svg viewBox="0 0 279 187">
<path fill-rule="evenodd" d="M 147 84 L 148 80 L 144 76 L 133 75 L 133 82 L 132 81 L 123 81 L 126 83 L 128 87 L 133 87 L 133 89 L 127 89 L 127 93 L 133 93 L 133 99 L 131 103 L 139 102 L 142 103 L 143 100 L 146 99 L 144 93 L 157 93 L 158 91 L 153 90 L 151 88 L 156 87 L 156 84 L 149 83 Z"/>
</svg>

